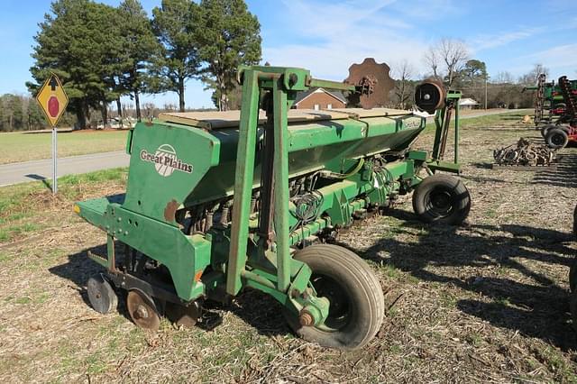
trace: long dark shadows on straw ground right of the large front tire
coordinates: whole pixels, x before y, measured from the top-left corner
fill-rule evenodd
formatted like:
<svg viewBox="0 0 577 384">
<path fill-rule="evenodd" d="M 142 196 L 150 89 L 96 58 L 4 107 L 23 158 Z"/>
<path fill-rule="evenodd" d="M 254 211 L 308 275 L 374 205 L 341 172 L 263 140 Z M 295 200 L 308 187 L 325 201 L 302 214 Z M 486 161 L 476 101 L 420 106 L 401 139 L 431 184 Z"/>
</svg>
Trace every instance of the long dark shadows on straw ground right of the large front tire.
<svg viewBox="0 0 577 384">
<path fill-rule="evenodd" d="M 492 325 L 541 338 L 565 350 L 574 348 L 577 337 L 568 324 L 568 293 L 545 273 L 528 268 L 520 261 L 569 266 L 572 258 L 562 255 L 574 252 L 567 244 L 572 242 L 572 235 L 515 224 L 465 228 L 426 226 L 404 211 L 391 210 L 389 215 L 405 221 L 395 229 L 397 233 L 405 231 L 415 235 L 418 229 L 418 233 L 423 234 L 419 235 L 418 242 L 380 239 L 366 251 L 356 250 L 362 258 L 384 262 L 423 281 L 481 294 L 492 302 L 468 298 L 458 301 L 457 307 Z M 470 267 L 492 268 L 498 271 L 498 276 L 474 276 Z M 437 272 L 447 268 L 450 270 L 446 275 Z M 517 270 L 532 283 L 511 279 L 507 269 Z M 463 270 L 463 274 L 459 270 Z"/>
</svg>

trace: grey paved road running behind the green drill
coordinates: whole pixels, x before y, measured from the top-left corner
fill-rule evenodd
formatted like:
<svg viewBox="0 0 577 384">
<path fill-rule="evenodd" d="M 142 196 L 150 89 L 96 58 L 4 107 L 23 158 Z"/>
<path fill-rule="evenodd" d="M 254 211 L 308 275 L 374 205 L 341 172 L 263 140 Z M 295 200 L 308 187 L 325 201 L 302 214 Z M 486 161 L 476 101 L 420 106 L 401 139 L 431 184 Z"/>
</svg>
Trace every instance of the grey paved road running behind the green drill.
<svg viewBox="0 0 577 384">
<path fill-rule="evenodd" d="M 462 119 L 479 117 L 488 114 L 503 114 L 507 110 L 475 111 L 462 114 Z M 510 112 L 530 113 L 531 110 L 513 110 Z M 127 167 L 129 156 L 124 151 L 94 153 L 89 155 L 61 158 L 58 162 L 58 176 L 92 172 L 99 169 Z M 23 183 L 32 180 L 52 178 L 52 160 L 33 160 L 0 165 L 0 187 Z"/>
</svg>

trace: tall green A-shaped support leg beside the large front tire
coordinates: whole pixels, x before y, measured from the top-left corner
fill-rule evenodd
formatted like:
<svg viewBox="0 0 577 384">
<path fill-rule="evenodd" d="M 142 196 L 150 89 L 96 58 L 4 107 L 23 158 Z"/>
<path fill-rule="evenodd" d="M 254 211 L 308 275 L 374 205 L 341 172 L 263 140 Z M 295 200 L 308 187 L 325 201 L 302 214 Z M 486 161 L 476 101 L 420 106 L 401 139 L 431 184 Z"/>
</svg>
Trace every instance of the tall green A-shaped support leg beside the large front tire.
<svg viewBox="0 0 577 384">
<path fill-rule="evenodd" d="M 305 78 L 304 73 L 300 74 Z M 297 313 L 306 309 L 314 314 L 315 324 L 324 322 L 328 315 L 328 300 L 316 297 L 309 289 L 311 270 L 301 261 L 292 259 L 289 237 L 289 151 L 286 69 L 261 71 L 249 69 L 243 73 L 243 108 L 234 180 L 233 221 L 231 243 L 226 268 L 226 292 L 236 295 L 243 286 L 260 289 Z M 298 75 L 297 75 L 298 76 Z M 271 93 L 272 134 L 271 144 L 274 193 L 272 194 L 275 247 L 257 242 L 258 251 L 249 253 L 249 219 L 251 214 L 252 180 L 254 176 L 257 124 L 261 89 Z M 266 187 L 261 190 L 267 193 Z M 270 193 L 270 192 L 269 192 Z M 263 216 L 269 212 L 261 213 Z M 275 268 L 261 265 L 258 255 L 268 254 Z M 269 266 L 270 267 L 270 266 Z"/>
</svg>

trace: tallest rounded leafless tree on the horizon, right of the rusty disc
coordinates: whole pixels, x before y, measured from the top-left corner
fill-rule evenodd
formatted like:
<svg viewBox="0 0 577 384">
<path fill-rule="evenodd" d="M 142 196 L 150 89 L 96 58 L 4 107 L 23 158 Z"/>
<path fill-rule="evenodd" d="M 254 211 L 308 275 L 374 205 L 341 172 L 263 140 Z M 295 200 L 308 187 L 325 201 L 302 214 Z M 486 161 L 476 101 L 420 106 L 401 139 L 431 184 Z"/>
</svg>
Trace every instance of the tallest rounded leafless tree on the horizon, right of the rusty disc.
<svg viewBox="0 0 577 384">
<path fill-rule="evenodd" d="M 463 41 L 441 39 L 425 54 L 425 61 L 435 78 L 443 78 L 448 87 L 453 86 L 457 73 L 469 59 L 469 50 Z M 440 70 L 443 65 L 443 71 Z"/>
</svg>

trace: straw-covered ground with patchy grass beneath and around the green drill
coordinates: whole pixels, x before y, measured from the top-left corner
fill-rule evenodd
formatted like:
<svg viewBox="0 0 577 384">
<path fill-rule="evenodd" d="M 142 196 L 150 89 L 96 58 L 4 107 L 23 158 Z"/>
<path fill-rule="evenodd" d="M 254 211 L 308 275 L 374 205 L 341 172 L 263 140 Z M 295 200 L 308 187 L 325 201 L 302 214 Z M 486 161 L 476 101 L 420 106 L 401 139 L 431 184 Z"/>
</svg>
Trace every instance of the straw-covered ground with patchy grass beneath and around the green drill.
<svg viewBox="0 0 577 384">
<path fill-rule="evenodd" d="M 223 315 L 213 331 L 163 321 L 158 334 L 147 334 L 126 318 L 124 299 L 118 313 L 98 315 L 85 283 L 99 268 L 86 251 L 102 252 L 104 237 L 71 214 L 70 202 L 120 191 L 122 178 L 72 180 L 56 202 L 44 192 L 26 195 L 24 206 L 0 214 L 4 225 L 35 225 L 4 227 L 0 381 L 576 381 L 567 273 L 577 150 L 563 150 L 556 171 L 489 169 L 494 148 L 519 136 L 539 140 L 520 117 L 467 123 L 467 224 L 420 224 L 404 197 L 389 215 L 343 233 L 342 244 L 378 273 L 389 304 L 378 337 L 359 352 L 295 338 L 279 306 L 258 292 L 210 306 L 207 316 Z M 427 133 L 417 146 L 430 140 Z"/>
</svg>

